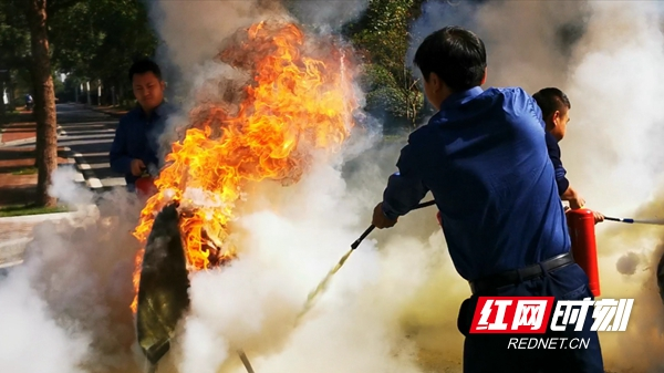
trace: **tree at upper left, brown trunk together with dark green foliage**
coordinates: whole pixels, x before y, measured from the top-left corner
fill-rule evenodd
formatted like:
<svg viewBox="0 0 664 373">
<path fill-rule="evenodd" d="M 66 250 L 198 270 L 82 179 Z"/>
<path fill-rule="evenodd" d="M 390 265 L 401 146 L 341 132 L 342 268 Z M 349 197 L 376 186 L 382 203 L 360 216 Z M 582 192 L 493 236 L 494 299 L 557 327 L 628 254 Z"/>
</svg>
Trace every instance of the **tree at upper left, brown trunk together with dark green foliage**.
<svg viewBox="0 0 664 373">
<path fill-rule="evenodd" d="M 101 80 L 102 86 L 122 92 L 132 60 L 153 55 L 156 46 L 142 0 L 0 1 L 0 71 L 6 71 L 0 92 L 2 84 L 12 86 L 23 76 L 34 90 L 38 205 L 55 204 L 49 196 L 58 167 L 53 74 Z"/>
</svg>

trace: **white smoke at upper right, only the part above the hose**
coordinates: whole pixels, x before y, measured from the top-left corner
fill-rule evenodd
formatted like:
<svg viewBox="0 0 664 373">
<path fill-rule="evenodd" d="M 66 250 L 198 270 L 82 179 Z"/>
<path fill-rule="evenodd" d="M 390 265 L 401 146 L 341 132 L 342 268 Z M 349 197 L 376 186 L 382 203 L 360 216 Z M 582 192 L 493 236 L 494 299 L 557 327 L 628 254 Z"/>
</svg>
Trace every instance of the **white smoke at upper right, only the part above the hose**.
<svg viewBox="0 0 664 373">
<path fill-rule="evenodd" d="M 573 122 L 562 146 L 569 159 L 584 159 L 570 163 L 569 172 L 589 190 L 587 199 L 629 214 L 662 182 L 664 35 L 655 3 L 591 6 L 593 17 L 574 51 L 568 89 Z"/>
</svg>

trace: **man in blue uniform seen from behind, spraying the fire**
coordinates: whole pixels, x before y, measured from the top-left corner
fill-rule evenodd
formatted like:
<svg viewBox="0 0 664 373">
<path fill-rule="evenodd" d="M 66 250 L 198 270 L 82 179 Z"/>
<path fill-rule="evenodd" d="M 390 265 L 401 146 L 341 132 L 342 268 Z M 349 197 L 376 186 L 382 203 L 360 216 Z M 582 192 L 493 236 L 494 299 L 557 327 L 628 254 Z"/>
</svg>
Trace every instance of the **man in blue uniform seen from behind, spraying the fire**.
<svg viewBox="0 0 664 373">
<path fill-rule="evenodd" d="M 430 191 L 447 247 L 473 296 L 459 310 L 465 372 L 603 372 L 592 308 L 582 331 L 569 325 L 544 336 L 583 338 L 588 349 L 508 349 L 525 334 L 469 333 L 478 297 L 593 298 L 573 262 L 544 124 L 521 89 L 489 89 L 486 50 L 473 32 L 447 27 L 415 54 L 427 100 L 438 110 L 413 132 L 388 179 L 373 225 L 388 228 Z M 546 322 L 546 321 L 544 321 Z M 585 341 L 584 340 L 584 341 Z"/>
</svg>

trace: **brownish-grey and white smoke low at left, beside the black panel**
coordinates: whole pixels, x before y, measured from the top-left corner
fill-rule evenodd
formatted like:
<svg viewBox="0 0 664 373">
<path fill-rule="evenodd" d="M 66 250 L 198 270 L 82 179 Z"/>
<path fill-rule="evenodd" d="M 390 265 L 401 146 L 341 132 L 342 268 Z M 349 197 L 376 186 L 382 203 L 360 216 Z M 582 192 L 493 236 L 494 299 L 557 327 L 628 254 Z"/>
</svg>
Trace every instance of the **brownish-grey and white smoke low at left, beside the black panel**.
<svg viewBox="0 0 664 373">
<path fill-rule="evenodd" d="M 24 262 L 0 278 L 0 364 L 8 372 L 133 372 L 128 308 L 139 205 L 122 190 L 95 200 L 53 175 L 51 195 L 75 211 L 32 231 Z"/>
</svg>

